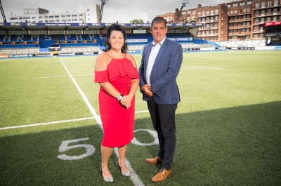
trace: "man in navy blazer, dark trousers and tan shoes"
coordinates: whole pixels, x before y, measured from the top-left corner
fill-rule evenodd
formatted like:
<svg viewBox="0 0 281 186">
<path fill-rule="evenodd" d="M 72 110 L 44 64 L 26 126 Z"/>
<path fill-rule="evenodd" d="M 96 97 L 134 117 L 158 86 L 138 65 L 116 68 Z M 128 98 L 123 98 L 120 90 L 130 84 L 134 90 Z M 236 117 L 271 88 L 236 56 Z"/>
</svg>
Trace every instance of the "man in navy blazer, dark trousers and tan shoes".
<svg viewBox="0 0 281 186">
<path fill-rule="evenodd" d="M 161 182 L 171 175 L 176 149 L 176 107 L 180 101 L 176 77 L 183 61 L 181 44 L 166 38 L 166 20 L 152 20 L 150 32 L 154 41 L 143 48 L 138 69 L 143 100 L 147 101 L 152 124 L 158 134 L 157 157 L 145 159 L 149 164 L 162 164 L 161 170 L 151 178 Z"/>
</svg>

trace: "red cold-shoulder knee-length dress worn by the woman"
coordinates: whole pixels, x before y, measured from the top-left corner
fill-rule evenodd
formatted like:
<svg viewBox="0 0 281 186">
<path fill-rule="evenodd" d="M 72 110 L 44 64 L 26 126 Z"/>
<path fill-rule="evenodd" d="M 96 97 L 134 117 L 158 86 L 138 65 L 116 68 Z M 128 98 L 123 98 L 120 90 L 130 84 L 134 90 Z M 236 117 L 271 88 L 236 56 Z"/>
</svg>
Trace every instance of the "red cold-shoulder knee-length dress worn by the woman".
<svg viewBox="0 0 281 186">
<path fill-rule="evenodd" d="M 120 93 L 128 95 L 132 79 L 139 79 L 138 70 L 125 55 L 123 59 L 112 58 L 106 70 L 95 71 L 94 81 L 96 83 L 110 82 Z M 126 109 L 116 98 L 100 87 L 98 100 L 104 133 L 101 145 L 104 147 L 128 145 L 133 140 L 135 96 L 131 101 L 131 107 Z"/>
</svg>

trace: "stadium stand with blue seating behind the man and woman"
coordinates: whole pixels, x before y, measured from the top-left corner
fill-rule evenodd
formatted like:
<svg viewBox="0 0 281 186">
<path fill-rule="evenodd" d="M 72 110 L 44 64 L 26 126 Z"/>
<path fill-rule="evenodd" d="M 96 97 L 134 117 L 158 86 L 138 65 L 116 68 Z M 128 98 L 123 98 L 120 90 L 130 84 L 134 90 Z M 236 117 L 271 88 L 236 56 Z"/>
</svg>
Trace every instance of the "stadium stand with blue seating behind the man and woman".
<svg viewBox="0 0 281 186">
<path fill-rule="evenodd" d="M 27 25 L 27 23 L 20 23 L 15 27 L 11 23 L 1 25 L 0 55 L 92 55 L 103 51 L 107 25 L 79 25 L 76 23 L 71 23 L 70 25 L 74 27 L 67 26 L 67 30 L 64 30 L 66 27 L 63 27 L 62 24 L 46 25 L 37 23 Z M 87 29 L 85 29 L 85 26 Z M 13 30 L 9 30 L 12 27 Z M 63 27 L 63 30 L 61 27 Z M 127 31 L 126 39 L 129 53 L 142 53 L 145 44 L 153 41 L 149 32 L 150 25 L 148 24 L 128 24 L 124 25 L 124 27 L 126 27 Z M 183 51 L 199 51 L 200 48 L 215 49 L 219 47 L 215 43 L 196 39 L 195 36 L 188 33 L 186 27 L 200 27 L 200 25 L 170 25 L 171 32 L 167 34 L 168 39 L 183 46 Z M 77 30 L 74 30 L 74 28 Z M 33 31 L 27 32 L 28 29 Z M 133 32 L 134 29 L 138 29 L 138 32 Z M 59 45 L 59 50 L 49 48 L 53 44 Z"/>
</svg>

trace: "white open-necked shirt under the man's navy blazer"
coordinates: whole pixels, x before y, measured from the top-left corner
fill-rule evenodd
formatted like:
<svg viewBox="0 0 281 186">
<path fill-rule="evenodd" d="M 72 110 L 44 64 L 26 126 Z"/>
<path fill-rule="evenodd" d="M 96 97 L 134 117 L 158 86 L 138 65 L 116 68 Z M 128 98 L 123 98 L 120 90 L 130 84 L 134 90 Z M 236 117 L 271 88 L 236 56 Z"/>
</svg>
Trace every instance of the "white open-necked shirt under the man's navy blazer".
<svg viewBox="0 0 281 186">
<path fill-rule="evenodd" d="M 146 69 L 146 82 L 147 82 L 147 84 L 150 84 L 151 70 L 152 70 L 152 67 L 154 65 L 156 56 L 157 56 L 162 44 L 164 43 L 165 39 L 166 39 L 166 37 L 157 45 L 155 45 L 155 41 L 152 42 L 152 49 L 151 49 L 151 52 L 150 52 L 150 56 L 148 58 L 148 68 Z"/>
</svg>

